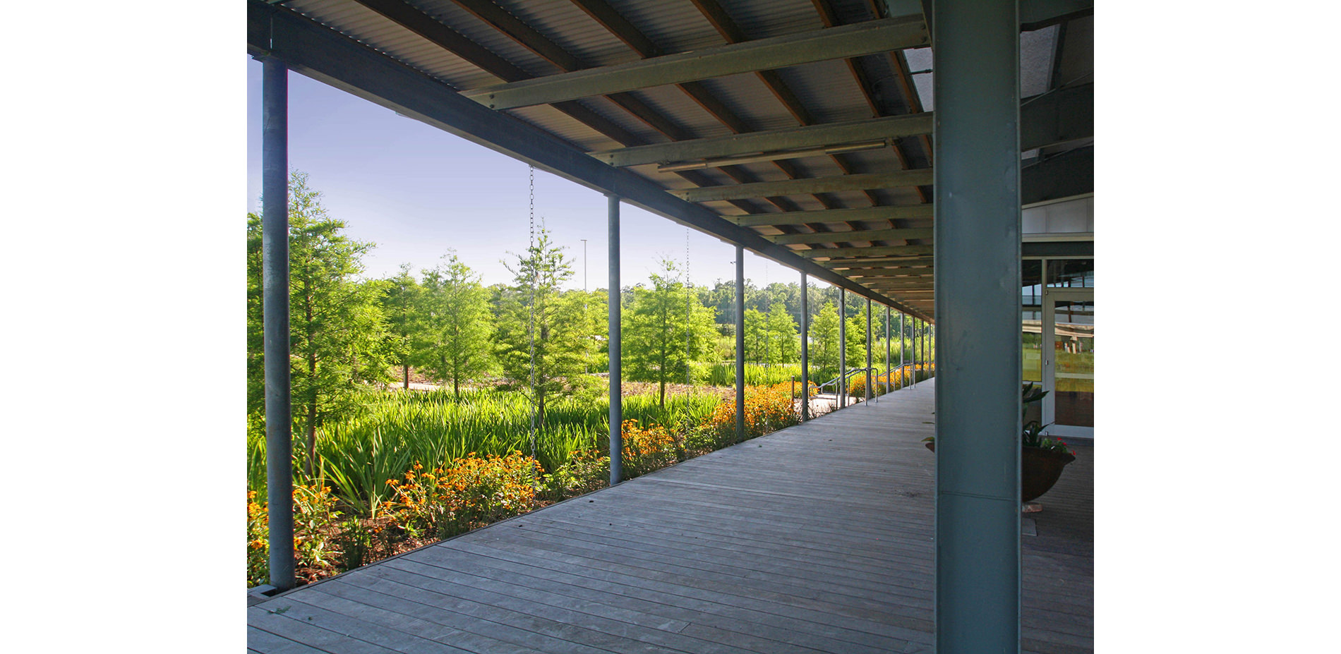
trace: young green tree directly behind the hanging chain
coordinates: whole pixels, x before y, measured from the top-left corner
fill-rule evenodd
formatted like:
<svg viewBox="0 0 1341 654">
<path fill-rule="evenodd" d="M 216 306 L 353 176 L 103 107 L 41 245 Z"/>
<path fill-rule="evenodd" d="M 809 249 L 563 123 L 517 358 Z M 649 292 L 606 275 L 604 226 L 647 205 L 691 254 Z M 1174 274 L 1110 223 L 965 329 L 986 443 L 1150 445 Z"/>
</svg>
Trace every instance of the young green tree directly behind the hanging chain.
<svg viewBox="0 0 1341 654">
<path fill-rule="evenodd" d="M 499 298 L 498 354 L 503 374 L 526 389 L 543 433 L 546 405 L 571 390 L 570 379 L 582 373 L 586 343 L 577 307 L 561 302 L 559 287 L 573 276 L 563 248 L 551 245 L 542 226 L 526 256 L 514 256 L 515 263 L 504 263 L 514 284 Z"/>
</svg>

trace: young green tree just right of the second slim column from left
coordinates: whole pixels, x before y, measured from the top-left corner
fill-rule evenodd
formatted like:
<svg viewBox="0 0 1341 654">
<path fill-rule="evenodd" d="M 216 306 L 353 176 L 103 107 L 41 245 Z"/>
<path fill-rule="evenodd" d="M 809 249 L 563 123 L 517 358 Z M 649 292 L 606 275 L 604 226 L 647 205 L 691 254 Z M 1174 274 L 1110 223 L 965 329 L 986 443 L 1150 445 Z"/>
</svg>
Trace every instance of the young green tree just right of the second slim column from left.
<svg viewBox="0 0 1341 654">
<path fill-rule="evenodd" d="M 630 378 L 652 379 L 666 403 L 666 382 L 684 379 L 691 361 L 712 350 L 713 324 L 709 310 L 688 303 L 688 291 L 675 275 L 676 265 L 661 260 L 661 273 L 652 273 L 652 288 L 636 288 L 625 331 L 624 358 Z"/>
</svg>

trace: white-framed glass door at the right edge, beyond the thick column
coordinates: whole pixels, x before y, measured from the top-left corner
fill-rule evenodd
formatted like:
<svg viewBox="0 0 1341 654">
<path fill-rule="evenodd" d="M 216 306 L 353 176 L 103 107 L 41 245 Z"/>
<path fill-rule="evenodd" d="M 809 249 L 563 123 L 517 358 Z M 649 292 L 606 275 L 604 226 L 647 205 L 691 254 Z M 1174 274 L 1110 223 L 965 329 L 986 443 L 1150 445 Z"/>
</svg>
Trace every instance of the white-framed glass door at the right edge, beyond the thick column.
<svg viewBox="0 0 1341 654">
<path fill-rule="evenodd" d="M 1043 423 L 1053 436 L 1094 437 L 1094 291 L 1043 291 Z"/>
</svg>

